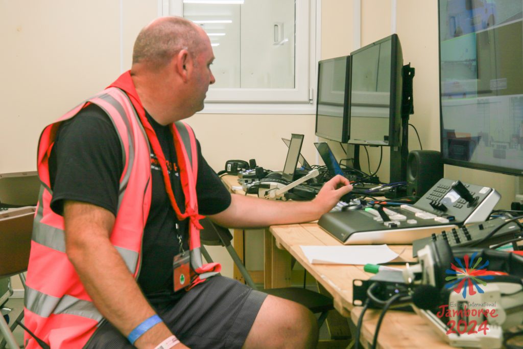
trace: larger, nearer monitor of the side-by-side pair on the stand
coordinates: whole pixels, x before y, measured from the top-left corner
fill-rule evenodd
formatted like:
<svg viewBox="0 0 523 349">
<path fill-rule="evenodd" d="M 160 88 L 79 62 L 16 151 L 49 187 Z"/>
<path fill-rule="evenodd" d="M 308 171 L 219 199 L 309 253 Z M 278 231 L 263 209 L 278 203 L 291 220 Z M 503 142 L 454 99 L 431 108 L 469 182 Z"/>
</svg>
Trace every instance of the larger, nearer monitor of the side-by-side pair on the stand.
<svg viewBox="0 0 523 349">
<path fill-rule="evenodd" d="M 396 147 L 403 86 L 400 39 L 393 34 L 350 56 L 348 143 Z"/>
</svg>

